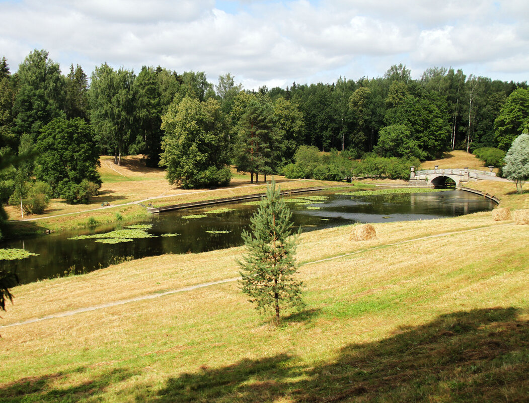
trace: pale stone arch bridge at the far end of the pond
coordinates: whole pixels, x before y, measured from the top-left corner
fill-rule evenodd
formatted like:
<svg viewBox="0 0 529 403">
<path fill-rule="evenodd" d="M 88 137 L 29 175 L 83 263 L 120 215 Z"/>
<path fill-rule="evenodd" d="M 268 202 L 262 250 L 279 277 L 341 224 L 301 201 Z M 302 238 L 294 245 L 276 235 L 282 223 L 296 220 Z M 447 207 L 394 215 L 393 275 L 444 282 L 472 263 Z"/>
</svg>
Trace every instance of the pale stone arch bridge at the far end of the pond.
<svg viewBox="0 0 529 403">
<path fill-rule="evenodd" d="M 499 178 L 496 173 L 490 171 L 478 171 L 476 169 L 468 168 L 449 168 L 449 169 L 426 169 L 415 171 L 411 168 L 409 176 L 409 184 L 415 186 L 443 186 L 446 179 L 450 178 L 455 182 L 455 186 L 461 187 L 464 183 L 475 180 L 497 180 L 501 182 L 508 182 L 507 179 Z"/>
</svg>

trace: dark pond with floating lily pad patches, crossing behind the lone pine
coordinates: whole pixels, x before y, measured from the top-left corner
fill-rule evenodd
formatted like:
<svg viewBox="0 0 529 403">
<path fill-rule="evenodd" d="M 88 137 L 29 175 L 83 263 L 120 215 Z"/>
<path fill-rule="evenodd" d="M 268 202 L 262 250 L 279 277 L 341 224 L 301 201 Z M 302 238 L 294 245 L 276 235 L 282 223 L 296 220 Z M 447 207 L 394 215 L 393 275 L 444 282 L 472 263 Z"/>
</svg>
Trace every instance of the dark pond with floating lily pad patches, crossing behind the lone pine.
<svg viewBox="0 0 529 403">
<path fill-rule="evenodd" d="M 461 190 L 358 196 L 336 193 L 337 190 L 288 196 L 286 200 L 292 200 L 288 206 L 294 212 L 295 226 L 307 232 L 357 222 L 452 217 L 491 210 L 495 206 L 489 199 Z M 142 222 L 4 242 L 0 248 L 25 249 L 38 255 L 22 260 L 0 260 L 0 264 L 4 269 L 16 269 L 21 282 L 28 283 L 85 273 L 127 259 L 230 248 L 242 244 L 241 232 L 248 229 L 256 210 L 257 205 L 244 202 L 187 208 L 152 215 Z M 148 228 L 126 228 L 138 224 Z M 101 235 L 115 230 L 121 232 Z M 71 239 L 78 236 L 81 239 Z M 122 242 L 123 238 L 129 240 Z"/>
</svg>

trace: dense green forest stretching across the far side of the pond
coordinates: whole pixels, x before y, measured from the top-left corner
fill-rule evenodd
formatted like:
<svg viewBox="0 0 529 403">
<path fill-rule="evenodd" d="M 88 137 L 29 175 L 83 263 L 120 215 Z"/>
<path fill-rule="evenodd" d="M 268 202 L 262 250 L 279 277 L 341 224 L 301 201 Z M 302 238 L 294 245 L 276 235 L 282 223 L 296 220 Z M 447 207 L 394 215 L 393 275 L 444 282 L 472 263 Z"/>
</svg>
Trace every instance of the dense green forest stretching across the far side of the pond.
<svg viewBox="0 0 529 403">
<path fill-rule="evenodd" d="M 399 65 L 383 77 L 256 91 L 230 74 L 213 84 L 204 72 L 160 66 L 136 74 L 103 63 L 88 77 L 71 65 L 63 75 L 35 50 L 15 73 L 0 62 L 0 201 L 33 195 L 38 205 L 35 195 L 45 194 L 82 203 L 101 186 L 100 154 L 116 164 L 143 154 L 184 187 L 225 184 L 230 166 L 252 181 L 272 173 L 402 177 L 410 163 L 451 149 L 501 160 L 528 115 L 525 82 L 453 68 L 415 80 Z"/>
</svg>

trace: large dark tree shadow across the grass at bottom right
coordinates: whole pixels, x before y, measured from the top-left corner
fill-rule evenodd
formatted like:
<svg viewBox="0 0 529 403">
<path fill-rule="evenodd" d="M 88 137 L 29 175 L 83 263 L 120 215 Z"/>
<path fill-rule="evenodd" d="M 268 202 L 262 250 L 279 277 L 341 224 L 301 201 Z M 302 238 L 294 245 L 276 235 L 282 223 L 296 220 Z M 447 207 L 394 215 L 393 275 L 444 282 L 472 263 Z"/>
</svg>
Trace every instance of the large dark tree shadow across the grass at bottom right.
<svg viewBox="0 0 529 403">
<path fill-rule="evenodd" d="M 332 336 L 330 336 L 332 337 Z M 442 315 L 379 342 L 349 344 L 316 367 L 279 354 L 203 368 L 136 401 L 527 401 L 529 323 L 514 308 Z M 156 393 L 156 394 L 155 394 Z M 283 400 L 281 400 L 283 401 Z"/>
</svg>

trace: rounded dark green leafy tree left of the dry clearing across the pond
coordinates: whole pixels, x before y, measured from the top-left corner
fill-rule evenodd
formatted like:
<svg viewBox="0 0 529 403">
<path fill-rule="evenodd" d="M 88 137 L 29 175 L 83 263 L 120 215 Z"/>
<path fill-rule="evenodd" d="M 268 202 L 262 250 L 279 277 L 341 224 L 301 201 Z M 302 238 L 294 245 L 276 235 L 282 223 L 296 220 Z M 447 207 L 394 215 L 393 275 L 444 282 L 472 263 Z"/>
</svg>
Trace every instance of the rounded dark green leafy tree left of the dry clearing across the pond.
<svg viewBox="0 0 529 403">
<path fill-rule="evenodd" d="M 94 134 L 81 118 L 57 118 L 45 125 L 37 140 L 39 157 L 35 175 L 47 181 L 56 197 L 71 203 L 87 201 L 87 192 L 94 194 L 92 185 L 101 187 L 97 172 L 99 155 Z M 81 185 L 84 184 L 84 185 Z"/>
</svg>

